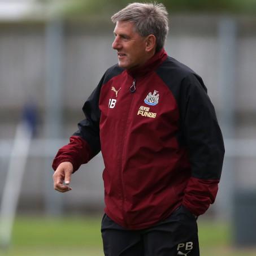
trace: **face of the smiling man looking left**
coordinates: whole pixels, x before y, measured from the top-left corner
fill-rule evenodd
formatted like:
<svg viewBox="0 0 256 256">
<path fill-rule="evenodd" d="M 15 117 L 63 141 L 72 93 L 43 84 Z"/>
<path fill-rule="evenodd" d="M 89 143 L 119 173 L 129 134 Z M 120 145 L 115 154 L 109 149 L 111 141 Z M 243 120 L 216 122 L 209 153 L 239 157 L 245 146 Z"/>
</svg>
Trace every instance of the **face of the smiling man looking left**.
<svg viewBox="0 0 256 256">
<path fill-rule="evenodd" d="M 135 31 L 134 23 L 118 21 L 114 35 L 112 48 L 118 52 L 119 67 L 131 69 L 146 62 L 146 40 Z"/>
</svg>

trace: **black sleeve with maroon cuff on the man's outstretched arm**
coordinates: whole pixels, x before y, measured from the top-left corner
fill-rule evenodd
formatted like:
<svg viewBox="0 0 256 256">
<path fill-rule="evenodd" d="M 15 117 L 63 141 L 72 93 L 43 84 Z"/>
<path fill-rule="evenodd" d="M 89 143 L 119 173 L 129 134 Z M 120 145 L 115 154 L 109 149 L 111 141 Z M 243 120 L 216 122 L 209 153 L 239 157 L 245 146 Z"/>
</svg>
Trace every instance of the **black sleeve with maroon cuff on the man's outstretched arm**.
<svg viewBox="0 0 256 256">
<path fill-rule="evenodd" d="M 104 77 L 104 76 L 103 76 Z M 97 88 L 84 103 L 83 112 L 85 119 L 78 124 L 78 131 L 70 137 L 70 143 L 59 149 L 53 160 L 53 169 L 56 170 L 60 163 L 71 162 L 74 171 L 81 164 L 87 163 L 101 151 L 99 140 L 99 94 L 103 83 L 103 77 Z"/>
</svg>

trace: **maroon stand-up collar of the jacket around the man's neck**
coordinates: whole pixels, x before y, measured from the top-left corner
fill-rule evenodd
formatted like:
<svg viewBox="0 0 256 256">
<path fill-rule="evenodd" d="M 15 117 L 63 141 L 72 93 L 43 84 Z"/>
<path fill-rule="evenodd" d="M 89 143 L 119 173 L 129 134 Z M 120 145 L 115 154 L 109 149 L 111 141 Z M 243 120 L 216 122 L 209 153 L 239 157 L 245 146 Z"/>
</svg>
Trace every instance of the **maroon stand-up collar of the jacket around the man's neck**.
<svg viewBox="0 0 256 256">
<path fill-rule="evenodd" d="M 146 73 L 155 70 L 161 63 L 164 62 L 167 58 L 167 53 L 164 49 L 155 53 L 153 57 L 151 57 L 144 66 L 140 68 L 134 68 L 132 70 L 127 70 L 127 73 L 132 77 L 136 78 L 139 76 L 144 76 Z"/>
</svg>

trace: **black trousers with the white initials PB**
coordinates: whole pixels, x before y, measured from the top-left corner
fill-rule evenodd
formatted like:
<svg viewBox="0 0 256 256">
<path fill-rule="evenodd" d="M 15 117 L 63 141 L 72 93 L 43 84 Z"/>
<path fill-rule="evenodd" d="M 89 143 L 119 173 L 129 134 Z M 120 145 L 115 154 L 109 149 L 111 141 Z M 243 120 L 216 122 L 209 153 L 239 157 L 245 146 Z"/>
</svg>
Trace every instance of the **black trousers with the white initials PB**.
<svg viewBox="0 0 256 256">
<path fill-rule="evenodd" d="M 105 214 L 101 233 L 105 256 L 199 256 L 196 218 L 183 206 L 153 227 L 136 231 Z"/>
</svg>

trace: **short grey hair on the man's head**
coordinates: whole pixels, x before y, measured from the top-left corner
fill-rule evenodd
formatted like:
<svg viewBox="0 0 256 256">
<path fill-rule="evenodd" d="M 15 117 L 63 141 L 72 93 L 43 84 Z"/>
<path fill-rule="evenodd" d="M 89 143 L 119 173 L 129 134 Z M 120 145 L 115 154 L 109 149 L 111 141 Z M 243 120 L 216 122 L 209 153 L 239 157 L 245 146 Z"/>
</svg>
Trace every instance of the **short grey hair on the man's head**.
<svg viewBox="0 0 256 256">
<path fill-rule="evenodd" d="M 159 51 L 163 48 L 168 34 L 168 12 L 162 3 L 130 3 L 111 17 L 117 21 L 131 21 L 136 32 L 142 37 L 153 34 Z"/>
</svg>

